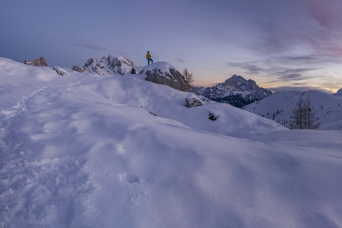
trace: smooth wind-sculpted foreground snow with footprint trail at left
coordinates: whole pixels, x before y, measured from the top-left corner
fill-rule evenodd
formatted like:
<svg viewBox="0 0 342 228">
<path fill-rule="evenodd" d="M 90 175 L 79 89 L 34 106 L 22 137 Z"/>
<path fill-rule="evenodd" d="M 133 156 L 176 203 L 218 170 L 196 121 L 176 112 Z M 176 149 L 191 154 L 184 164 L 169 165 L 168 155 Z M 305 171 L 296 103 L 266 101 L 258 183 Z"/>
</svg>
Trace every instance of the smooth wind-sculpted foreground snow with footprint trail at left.
<svg viewBox="0 0 342 228">
<path fill-rule="evenodd" d="M 187 108 L 139 75 L 0 77 L 1 227 L 342 226 L 342 131 Z"/>
</svg>

